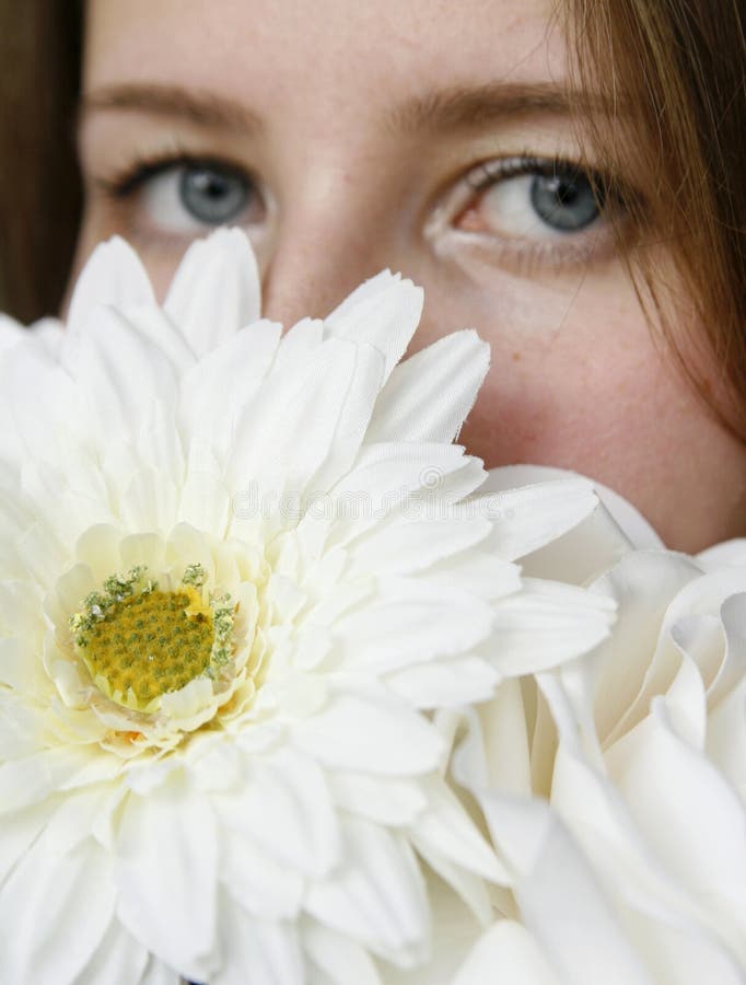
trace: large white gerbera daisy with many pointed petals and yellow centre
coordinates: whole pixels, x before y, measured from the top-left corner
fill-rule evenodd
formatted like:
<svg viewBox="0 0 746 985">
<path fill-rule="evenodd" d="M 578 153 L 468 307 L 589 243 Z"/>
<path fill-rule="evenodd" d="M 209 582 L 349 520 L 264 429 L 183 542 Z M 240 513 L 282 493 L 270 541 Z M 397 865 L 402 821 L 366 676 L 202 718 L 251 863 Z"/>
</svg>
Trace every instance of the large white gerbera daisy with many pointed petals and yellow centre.
<svg viewBox="0 0 746 985">
<path fill-rule="evenodd" d="M 162 309 L 113 241 L 65 333 L 2 327 L 0 981 L 363 982 L 428 958 L 419 859 L 491 919 L 431 712 L 613 605 L 521 581 L 595 497 L 492 518 L 451 443 L 487 347 L 397 367 L 420 309 L 386 273 L 280 337 L 222 232 Z"/>
</svg>

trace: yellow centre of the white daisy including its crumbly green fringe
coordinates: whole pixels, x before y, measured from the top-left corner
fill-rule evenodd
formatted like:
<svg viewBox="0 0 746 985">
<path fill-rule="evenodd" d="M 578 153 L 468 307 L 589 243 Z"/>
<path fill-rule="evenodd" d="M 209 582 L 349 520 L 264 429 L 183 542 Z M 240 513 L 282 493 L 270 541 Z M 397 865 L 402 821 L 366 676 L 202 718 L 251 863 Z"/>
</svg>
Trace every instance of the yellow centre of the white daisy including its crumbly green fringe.
<svg viewBox="0 0 746 985">
<path fill-rule="evenodd" d="M 152 711 L 164 694 L 215 676 L 230 659 L 233 619 L 228 598 L 206 598 L 199 565 L 173 591 L 159 589 L 144 570 L 107 578 L 70 625 L 98 690 L 125 707 Z"/>
</svg>

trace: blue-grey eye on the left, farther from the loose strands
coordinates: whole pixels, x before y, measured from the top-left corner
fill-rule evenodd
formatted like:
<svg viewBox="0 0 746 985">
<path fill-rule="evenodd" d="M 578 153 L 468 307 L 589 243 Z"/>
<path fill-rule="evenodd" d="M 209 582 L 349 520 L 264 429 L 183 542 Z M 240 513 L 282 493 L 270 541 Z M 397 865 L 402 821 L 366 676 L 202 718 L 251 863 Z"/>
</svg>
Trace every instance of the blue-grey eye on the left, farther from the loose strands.
<svg viewBox="0 0 746 985">
<path fill-rule="evenodd" d="M 219 161 L 166 158 L 138 161 L 101 182 L 112 199 L 127 204 L 131 221 L 161 234 L 195 234 L 206 228 L 261 222 L 265 205 L 256 183 Z"/>
</svg>

